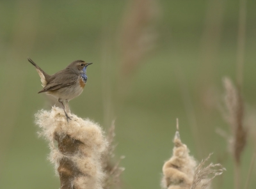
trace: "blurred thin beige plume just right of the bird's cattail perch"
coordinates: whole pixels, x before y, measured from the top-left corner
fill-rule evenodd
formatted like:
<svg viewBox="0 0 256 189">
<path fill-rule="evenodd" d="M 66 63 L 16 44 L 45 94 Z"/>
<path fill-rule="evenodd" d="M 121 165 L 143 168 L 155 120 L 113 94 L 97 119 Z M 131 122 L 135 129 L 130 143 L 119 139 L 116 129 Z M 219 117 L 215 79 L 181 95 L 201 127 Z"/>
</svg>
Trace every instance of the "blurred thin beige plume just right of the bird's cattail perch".
<svg viewBox="0 0 256 189">
<path fill-rule="evenodd" d="M 113 144 L 115 137 L 115 122 L 112 122 L 111 127 L 108 131 L 107 141 L 108 141 L 108 147 L 102 154 L 102 169 L 106 175 L 103 181 L 103 188 L 109 189 L 111 187 L 113 188 L 121 188 L 120 187 L 120 175 L 124 171 L 123 167 L 119 167 L 120 161 L 116 163 L 112 163 L 112 158 L 115 156 L 114 151 L 116 145 Z M 122 159 L 124 157 L 121 157 Z"/>
</svg>

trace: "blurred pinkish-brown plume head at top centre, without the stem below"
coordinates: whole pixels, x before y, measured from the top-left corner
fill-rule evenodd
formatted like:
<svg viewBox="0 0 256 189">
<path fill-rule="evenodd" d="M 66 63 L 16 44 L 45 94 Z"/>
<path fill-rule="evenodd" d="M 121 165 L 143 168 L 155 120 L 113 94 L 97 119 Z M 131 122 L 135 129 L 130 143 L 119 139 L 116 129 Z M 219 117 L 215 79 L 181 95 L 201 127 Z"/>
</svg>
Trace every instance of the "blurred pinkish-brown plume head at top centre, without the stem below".
<svg viewBox="0 0 256 189">
<path fill-rule="evenodd" d="M 156 41 L 156 0 L 132 0 L 122 21 L 122 75 L 130 75 Z"/>
</svg>

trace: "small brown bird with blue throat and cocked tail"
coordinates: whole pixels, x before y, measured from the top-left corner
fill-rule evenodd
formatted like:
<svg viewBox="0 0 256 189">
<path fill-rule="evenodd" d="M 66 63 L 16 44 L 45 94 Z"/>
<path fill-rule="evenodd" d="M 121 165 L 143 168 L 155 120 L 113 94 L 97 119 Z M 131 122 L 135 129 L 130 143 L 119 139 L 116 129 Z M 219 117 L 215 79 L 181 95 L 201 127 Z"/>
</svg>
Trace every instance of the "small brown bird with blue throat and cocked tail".
<svg viewBox="0 0 256 189">
<path fill-rule="evenodd" d="M 74 61 L 64 70 L 61 70 L 54 75 L 48 75 L 29 57 L 28 61 L 35 66 L 36 71 L 41 78 L 42 86 L 44 87 L 38 93 L 51 94 L 57 98 L 63 107 L 67 121 L 68 119 L 71 119 L 67 114 L 67 112 L 70 112 L 68 101 L 76 98 L 83 92 L 87 82 L 86 68 L 92 63 L 86 63 L 81 60 Z M 63 102 L 65 102 L 65 105 Z"/>
</svg>

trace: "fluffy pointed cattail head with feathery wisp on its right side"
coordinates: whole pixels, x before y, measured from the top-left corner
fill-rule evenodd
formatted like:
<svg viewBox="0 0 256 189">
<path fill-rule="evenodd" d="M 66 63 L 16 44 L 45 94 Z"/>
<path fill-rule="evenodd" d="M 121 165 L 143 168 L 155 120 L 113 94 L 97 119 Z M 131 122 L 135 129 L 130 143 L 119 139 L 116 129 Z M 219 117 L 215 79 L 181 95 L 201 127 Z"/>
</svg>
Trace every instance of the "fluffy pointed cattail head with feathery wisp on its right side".
<svg viewBox="0 0 256 189">
<path fill-rule="evenodd" d="M 173 140 L 173 155 L 163 166 L 163 188 L 168 189 L 206 189 L 210 187 L 212 179 L 222 174 L 223 167 L 220 164 L 210 163 L 207 167 L 203 167 L 209 159 L 203 160 L 197 167 L 193 156 L 189 155 L 189 149 L 186 144 L 180 140 L 178 131 L 175 133 Z M 215 167 L 220 167 L 216 170 Z M 213 174 L 211 178 L 209 176 Z"/>
</svg>

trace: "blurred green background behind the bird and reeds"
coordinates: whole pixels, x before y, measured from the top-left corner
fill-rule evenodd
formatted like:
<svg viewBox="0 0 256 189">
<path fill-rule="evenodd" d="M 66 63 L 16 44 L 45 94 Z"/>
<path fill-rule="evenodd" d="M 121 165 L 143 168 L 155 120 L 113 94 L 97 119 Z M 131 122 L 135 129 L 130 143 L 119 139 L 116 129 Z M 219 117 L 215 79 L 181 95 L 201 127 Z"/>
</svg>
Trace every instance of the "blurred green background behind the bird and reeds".
<svg viewBox="0 0 256 189">
<path fill-rule="evenodd" d="M 248 0 L 244 66 L 238 70 L 250 112 L 256 103 L 255 8 L 256 1 Z M 123 188 L 161 188 L 176 117 L 191 155 L 201 161 L 213 152 L 211 161 L 227 168 L 214 188 L 234 188 L 233 159 L 216 128 L 230 133 L 218 107 L 223 77 L 236 82 L 238 18 L 238 0 L 1 0 L 0 188 L 60 187 L 34 117 L 52 102 L 37 94 L 40 78 L 27 57 L 49 74 L 76 59 L 93 62 L 70 109 L 104 130 L 116 119 Z M 250 132 L 243 151 L 241 188 L 255 137 Z M 248 188 L 255 185 L 250 179 Z"/>
</svg>

